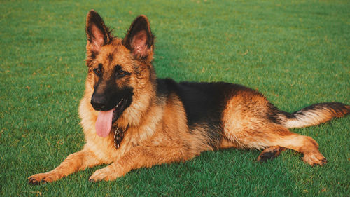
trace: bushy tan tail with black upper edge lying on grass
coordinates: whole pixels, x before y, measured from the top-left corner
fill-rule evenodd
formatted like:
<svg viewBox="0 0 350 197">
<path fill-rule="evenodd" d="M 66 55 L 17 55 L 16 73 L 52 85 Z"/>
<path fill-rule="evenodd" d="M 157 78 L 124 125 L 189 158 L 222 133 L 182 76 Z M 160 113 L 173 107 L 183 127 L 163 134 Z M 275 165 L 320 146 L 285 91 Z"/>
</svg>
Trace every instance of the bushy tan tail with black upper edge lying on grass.
<svg viewBox="0 0 350 197">
<path fill-rule="evenodd" d="M 287 128 L 302 128 L 343 117 L 350 113 L 350 106 L 340 102 L 323 102 L 295 111 L 292 114 L 280 114 L 281 122 Z"/>
</svg>

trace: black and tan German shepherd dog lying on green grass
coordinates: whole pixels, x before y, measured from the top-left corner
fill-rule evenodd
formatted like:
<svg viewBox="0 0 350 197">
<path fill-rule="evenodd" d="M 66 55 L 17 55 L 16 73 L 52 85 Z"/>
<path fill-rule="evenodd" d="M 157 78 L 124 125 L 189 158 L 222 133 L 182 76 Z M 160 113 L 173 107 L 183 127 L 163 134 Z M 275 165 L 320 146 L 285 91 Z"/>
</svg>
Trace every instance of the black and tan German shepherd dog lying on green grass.
<svg viewBox="0 0 350 197">
<path fill-rule="evenodd" d="M 339 102 L 313 104 L 289 114 L 256 90 L 232 83 L 176 83 L 157 79 L 152 65 L 155 36 L 145 15 L 124 39 L 111 34 L 96 11 L 86 18 L 87 79 L 79 116 L 86 144 L 50 172 L 29 183 L 53 182 L 95 165 L 90 181 L 111 181 L 132 169 L 187 161 L 202 151 L 263 149 L 258 161 L 284 149 L 309 165 L 327 160 L 311 137 L 291 133 L 349 114 Z"/>
</svg>

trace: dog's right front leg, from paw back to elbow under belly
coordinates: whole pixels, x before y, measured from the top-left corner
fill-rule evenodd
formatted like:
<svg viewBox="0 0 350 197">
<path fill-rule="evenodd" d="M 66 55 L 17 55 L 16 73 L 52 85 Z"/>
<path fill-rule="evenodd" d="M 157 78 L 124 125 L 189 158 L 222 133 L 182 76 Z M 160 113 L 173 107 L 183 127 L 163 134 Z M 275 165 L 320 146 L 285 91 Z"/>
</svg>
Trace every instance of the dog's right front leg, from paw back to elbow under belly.
<svg viewBox="0 0 350 197">
<path fill-rule="evenodd" d="M 118 177 L 123 177 L 133 169 L 159 165 L 162 163 L 172 163 L 176 161 L 186 161 L 195 156 L 186 147 L 133 147 L 125 156 L 112 163 L 106 168 L 94 172 L 90 181 L 112 181 Z"/>
</svg>

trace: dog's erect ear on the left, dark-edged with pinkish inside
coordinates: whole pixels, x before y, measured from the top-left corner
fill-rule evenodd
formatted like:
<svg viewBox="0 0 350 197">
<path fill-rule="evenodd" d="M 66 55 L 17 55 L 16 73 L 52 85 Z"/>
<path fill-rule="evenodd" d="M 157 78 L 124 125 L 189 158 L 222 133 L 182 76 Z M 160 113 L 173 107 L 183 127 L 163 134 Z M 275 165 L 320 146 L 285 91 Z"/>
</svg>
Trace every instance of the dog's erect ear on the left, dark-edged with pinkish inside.
<svg viewBox="0 0 350 197">
<path fill-rule="evenodd" d="M 111 31 L 104 25 L 104 20 L 94 10 L 87 13 L 85 30 L 87 36 L 86 49 L 94 54 L 99 53 L 101 46 L 110 43 L 113 39 Z"/>
</svg>

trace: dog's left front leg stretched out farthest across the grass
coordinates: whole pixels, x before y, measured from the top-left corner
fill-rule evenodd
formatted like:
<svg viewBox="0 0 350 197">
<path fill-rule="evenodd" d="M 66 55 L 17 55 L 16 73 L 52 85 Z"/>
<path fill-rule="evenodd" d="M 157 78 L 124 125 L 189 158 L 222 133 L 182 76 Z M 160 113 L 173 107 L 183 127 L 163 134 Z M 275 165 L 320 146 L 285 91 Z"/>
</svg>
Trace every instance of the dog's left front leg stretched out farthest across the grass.
<svg viewBox="0 0 350 197">
<path fill-rule="evenodd" d="M 98 165 L 99 159 L 94 156 L 92 151 L 83 149 L 74 154 L 70 154 L 57 168 L 50 172 L 32 175 L 28 178 L 30 184 L 40 184 L 45 182 L 54 182 L 62 177 L 66 177 L 73 172 L 78 172 L 87 167 Z"/>
</svg>

